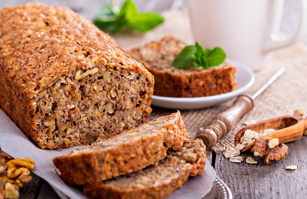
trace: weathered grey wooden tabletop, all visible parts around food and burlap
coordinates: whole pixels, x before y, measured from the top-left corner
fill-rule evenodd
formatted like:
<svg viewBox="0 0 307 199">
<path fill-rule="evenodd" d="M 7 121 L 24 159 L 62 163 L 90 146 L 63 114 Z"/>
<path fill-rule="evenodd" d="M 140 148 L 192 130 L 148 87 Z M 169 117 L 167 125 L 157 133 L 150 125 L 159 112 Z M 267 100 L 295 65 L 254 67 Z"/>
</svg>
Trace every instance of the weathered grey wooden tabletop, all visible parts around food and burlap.
<svg viewBox="0 0 307 199">
<path fill-rule="evenodd" d="M 26 1 L 1 1 L 0 8 L 24 2 Z M 94 9 L 97 9 L 97 5 L 104 1 L 92 0 L 85 3 L 83 0 L 44 0 L 41 2 L 50 5 L 67 6 L 84 17 L 92 19 L 95 13 Z M 135 0 L 135 2 L 137 2 L 141 10 L 160 12 L 169 9 L 174 0 Z M 185 9 L 186 2 L 184 2 L 181 7 Z M 298 1 L 285 1 L 285 10 L 281 27 L 283 32 L 293 32 L 299 17 L 298 10 Z M 307 37 L 303 39 L 303 42 L 307 43 Z M 215 154 L 211 151 L 207 151 L 207 158 L 215 168 L 216 174 L 230 187 L 234 198 L 307 198 L 307 167 L 297 169 L 300 170 L 299 172 L 285 170 L 286 166 L 293 164 L 291 160 L 300 160 L 301 165 L 307 165 L 307 153 L 301 153 L 302 149 L 307 146 L 307 137 L 303 137 L 287 145 L 289 147 L 289 155 L 285 160 L 281 161 L 282 166 L 280 166 L 280 164 L 278 166 L 273 164 L 263 168 L 261 166 L 249 165 L 246 163 L 231 163 L 228 159 L 223 157 L 222 153 Z M 296 153 L 296 151 L 300 151 L 300 153 Z M 0 152 L 2 152 L 1 149 Z M 252 154 L 245 153 L 242 156 L 248 157 L 252 156 Z M 258 162 L 262 161 L 259 158 L 255 159 Z M 45 180 L 34 174 L 32 174 L 32 176 L 32 181 L 21 188 L 20 198 L 59 198 Z"/>
</svg>

